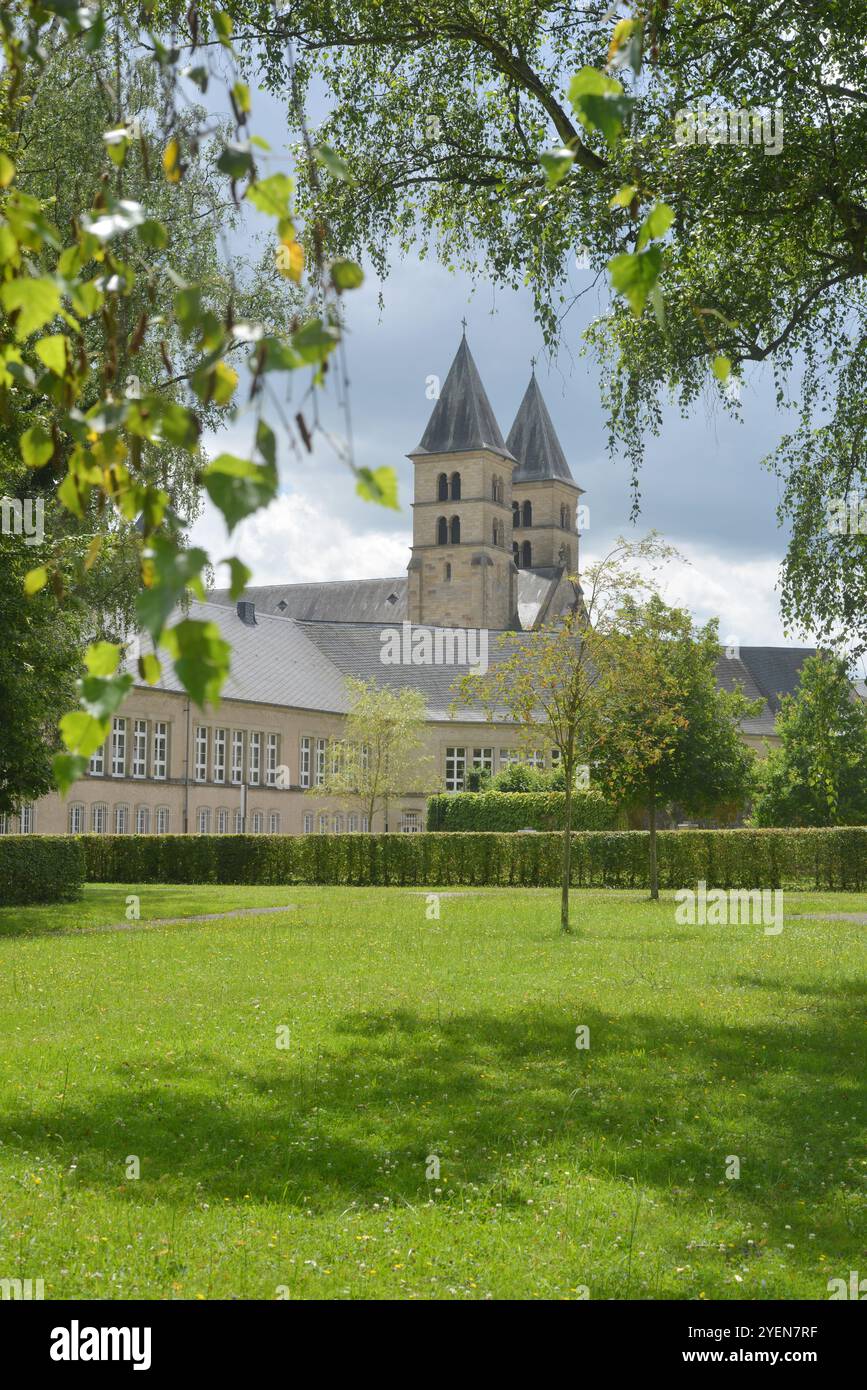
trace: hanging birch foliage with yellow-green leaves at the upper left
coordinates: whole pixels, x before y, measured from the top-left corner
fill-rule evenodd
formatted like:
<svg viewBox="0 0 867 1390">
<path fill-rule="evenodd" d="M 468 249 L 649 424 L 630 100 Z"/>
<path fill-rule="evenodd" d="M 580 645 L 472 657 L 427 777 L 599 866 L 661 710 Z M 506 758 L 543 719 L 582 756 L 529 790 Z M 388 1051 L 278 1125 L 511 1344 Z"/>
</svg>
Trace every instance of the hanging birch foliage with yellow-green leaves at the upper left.
<svg viewBox="0 0 867 1390">
<path fill-rule="evenodd" d="M 274 498 L 268 414 L 295 438 L 274 385 L 299 370 L 313 388 L 322 384 L 340 343 L 342 295 L 363 279 L 360 267 L 327 257 L 324 224 L 300 225 L 292 178 L 268 171 L 231 15 L 192 4 L 185 24 L 185 53 L 199 61 L 182 76 L 175 7 L 160 0 L 14 0 L 0 10 L 0 449 L 13 439 L 17 463 L 32 470 L 26 485 L 50 489 L 63 510 L 22 594 L 50 588 L 75 605 L 101 582 L 114 596 L 114 639 L 99 639 L 107 598 L 94 605 L 78 708 L 60 719 L 61 790 L 132 685 L 118 637 L 129 616 L 153 644 L 140 678 L 158 678 L 161 649 L 196 703 L 217 702 L 229 649 L 215 624 L 183 616 L 185 595 L 201 596 L 211 574 L 211 557 L 186 543 L 185 521 L 207 493 L 231 535 Z M 189 101 L 190 85 L 204 93 L 214 83 L 226 88 L 225 121 Z M 300 158 L 321 171 L 311 186 L 350 177 L 311 142 Z M 226 243 L 242 199 L 270 228 L 271 282 L 247 275 Z M 281 275 L 293 313 L 283 302 L 275 316 Z M 246 427 L 250 457 L 203 456 L 201 432 L 215 420 Z M 300 413 L 296 423 L 310 446 Z M 396 505 L 392 470 L 349 467 L 363 496 Z M 238 596 L 250 571 L 236 555 L 222 563 Z M 126 575 L 135 587 L 118 582 Z"/>
</svg>

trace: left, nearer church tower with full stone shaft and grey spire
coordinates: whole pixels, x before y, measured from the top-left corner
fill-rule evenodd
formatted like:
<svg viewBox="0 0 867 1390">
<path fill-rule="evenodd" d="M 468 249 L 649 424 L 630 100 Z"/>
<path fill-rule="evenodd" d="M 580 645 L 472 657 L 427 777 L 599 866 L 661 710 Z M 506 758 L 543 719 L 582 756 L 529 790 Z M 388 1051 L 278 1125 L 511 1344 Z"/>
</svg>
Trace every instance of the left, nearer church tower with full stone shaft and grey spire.
<svg viewBox="0 0 867 1390">
<path fill-rule="evenodd" d="M 515 627 L 514 459 L 465 332 L 421 443 L 408 457 L 415 468 L 408 620 L 435 627 Z"/>
</svg>

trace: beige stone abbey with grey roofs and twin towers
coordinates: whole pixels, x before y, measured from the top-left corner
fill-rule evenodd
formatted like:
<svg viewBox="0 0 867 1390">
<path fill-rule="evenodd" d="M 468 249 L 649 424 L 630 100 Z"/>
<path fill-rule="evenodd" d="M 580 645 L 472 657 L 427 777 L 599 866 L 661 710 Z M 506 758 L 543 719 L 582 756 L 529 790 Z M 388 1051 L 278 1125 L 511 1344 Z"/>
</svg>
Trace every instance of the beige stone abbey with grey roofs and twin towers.
<svg viewBox="0 0 867 1390">
<path fill-rule="evenodd" d="M 472 767 L 499 771 L 524 756 L 513 726 L 488 721 L 481 709 L 454 709 L 453 682 L 468 669 L 461 630 L 490 638 L 493 660 L 502 631 L 529 631 L 579 602 L 582 489 L 535 375 L 503 438 L 464 336 L 408 457 L 406 575 L 274 584 L 250 588 L 238 603 L 217 589 L 206 603 L 193 602 L 190 616 L 214 621 L 232 646 L 220 708 L 193 706 L 167 667 L 158 685 L 133 688 L 65 802 L 46 796 L 0 820 L 0 831 L 382 830 L 365 824 L 358 808 L 317 795 L 329 742 L 349 710 L 347 677 L 411 685 L 425 696 L 434 785 L 390 808 L 389 830 L 424 828 L 429 791 L 460 791 Z M 428 631 L 417 644 L 420 628 Z M 386 662 L 386 630 L 408 632 L 414 648 L 457 652 L 457 660 Z M 749 742 L 774 737 L 779 699 L 795 689 L 809 655 L 804 648 L 721 653 L 720 684 L 739 684 L 764 701 L 743 724 Z M 534 758 L 550 766 L 552 749 Z"/>
</svg>

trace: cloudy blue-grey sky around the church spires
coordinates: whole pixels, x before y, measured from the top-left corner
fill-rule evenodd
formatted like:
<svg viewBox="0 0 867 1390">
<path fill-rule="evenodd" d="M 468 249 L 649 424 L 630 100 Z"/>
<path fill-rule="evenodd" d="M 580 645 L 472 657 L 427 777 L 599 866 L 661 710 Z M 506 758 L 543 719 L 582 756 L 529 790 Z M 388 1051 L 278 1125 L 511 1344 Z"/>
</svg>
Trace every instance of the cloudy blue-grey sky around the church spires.
<svg viewBox="0 0 867 1390">
<path fill-rule="evenodd" d="M 253 110 L 256 131 L 278 154 L 286 143 L 278 103 L 257 93 Z M 727 644 L 810 642 L 810 634 L 784 632 L 775 592 L 785 535 L 775 516 L 778 482 L 760 460 L 788 420 L 777 409 L 767 368 L 756 367 L 746 377 L 741 423 L 721 413 L 710 392 L 686 420 L 674 409 L 666 411 L 660 436 L 647 441 L 642 512 L 634 524 L 628 466 L 606 445 L 599 368 L 581 354 L 582 329 L 604 310 L 604 285 L 578 300 L 564 321 L 557 357 L 550 360 L 528 292 L 472 284 L 434 260 L 414 257 L 395 260 L 383 284 L 370 267 L 364 270 L 363 288 L 345 297 L 349 438 L 357 464 L 397 470 L 400 510 L 357 498 L 339 450 L 318 435 L 311 456 L 281 449 L 281 492 L 265 513 L 243 523 L 228 543 L 222 520 L 208 505 L 193 528 L 196 543 L 215 559 L 240 555 L 254 571 L 254 584 L 403 574 L 413 499 L 413 466 L 406 455 L 421 439 L 434 407 L 428 381 L 445 381 L 465 317 L 470 349 L 503 436 L 527 388 L 531 357 L 538 359 L 542 393 L 589 507 L 582 564 L 604 555 L 617 535 L 638 539 L 654 528 L 682 556 L 664 574 L 668 602 L 688 607 L 697 621 L 718 617 Z M 577 267 L 571 278 L 575 288 L 592 284 L 592 274 Z M 293 384 L 296 393 L 299 385 Z M 320 418 L 327 431 L 346 441 L 346 416 L 331 388 Z M 215 455 L 240 452 L 247 441 L 242 418 L 204 442 Z M 218 571 L 218 582 L 225 582 L 225 570 Z"/>
</svg>

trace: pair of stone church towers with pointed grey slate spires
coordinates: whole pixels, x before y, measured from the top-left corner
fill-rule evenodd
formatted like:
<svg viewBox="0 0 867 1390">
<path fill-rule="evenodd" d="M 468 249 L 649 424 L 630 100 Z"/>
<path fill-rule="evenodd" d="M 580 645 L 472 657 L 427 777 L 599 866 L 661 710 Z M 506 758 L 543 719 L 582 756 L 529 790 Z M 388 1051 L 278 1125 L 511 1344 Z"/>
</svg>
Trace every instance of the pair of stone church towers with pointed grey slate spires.
<svg viewBox="0 0 867 1390">
<path fill-rule="evenodd" d="M 520 628 L 521 589 L 577 574 L 584 489 L 535 371 L 503 442 L 464 334 L 408 457 L 415 468 L 411 623 Z"/>
</svg>

